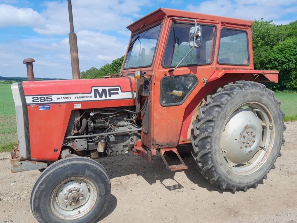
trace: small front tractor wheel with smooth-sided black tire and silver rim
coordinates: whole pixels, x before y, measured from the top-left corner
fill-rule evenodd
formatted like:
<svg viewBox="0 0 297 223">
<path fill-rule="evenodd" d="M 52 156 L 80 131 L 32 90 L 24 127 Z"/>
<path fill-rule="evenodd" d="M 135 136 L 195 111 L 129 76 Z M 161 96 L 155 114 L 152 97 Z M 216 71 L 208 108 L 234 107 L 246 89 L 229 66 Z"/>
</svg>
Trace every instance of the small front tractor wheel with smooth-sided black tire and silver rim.
<svg viewBox="0 0 297 223">
<path fill-rule="evenodd" d="M 31 193 L 31 209 L 40 223 L 94 223 L 105 211 L 110 180 L 96 161 L 61 159 L 46 168 Z"/>
</svg>

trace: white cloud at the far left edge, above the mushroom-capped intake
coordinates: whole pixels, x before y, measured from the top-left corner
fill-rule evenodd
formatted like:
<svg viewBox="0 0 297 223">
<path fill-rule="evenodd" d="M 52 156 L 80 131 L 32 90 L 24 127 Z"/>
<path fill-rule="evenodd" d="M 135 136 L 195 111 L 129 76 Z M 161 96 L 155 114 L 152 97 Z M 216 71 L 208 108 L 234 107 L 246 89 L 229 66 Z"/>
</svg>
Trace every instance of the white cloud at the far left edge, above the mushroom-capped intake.
<svg viewBox="0 0 297 223">
<path fill-rule="evenodd" d="M 12 5 L 0 5 L 1 26 L 36 26 L 45 19 L 31 8 L 16 8 Z"/>
</svg>

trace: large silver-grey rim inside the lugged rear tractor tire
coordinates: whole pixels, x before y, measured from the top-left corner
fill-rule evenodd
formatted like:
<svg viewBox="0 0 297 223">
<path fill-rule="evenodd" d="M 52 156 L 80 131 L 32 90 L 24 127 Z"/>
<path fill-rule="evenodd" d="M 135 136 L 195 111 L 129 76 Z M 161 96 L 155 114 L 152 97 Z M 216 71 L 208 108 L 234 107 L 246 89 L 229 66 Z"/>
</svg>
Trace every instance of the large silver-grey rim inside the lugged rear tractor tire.
<svg viewBox="0 0 297 223">
<path fill-rule="evenodd" d="M 274 142 L 274 120 L 260 102 L 247 102 L 231 112 L 222 130 L 220 147 L 228 168 L 249 175 L 266 162 Z"/>
</svg>

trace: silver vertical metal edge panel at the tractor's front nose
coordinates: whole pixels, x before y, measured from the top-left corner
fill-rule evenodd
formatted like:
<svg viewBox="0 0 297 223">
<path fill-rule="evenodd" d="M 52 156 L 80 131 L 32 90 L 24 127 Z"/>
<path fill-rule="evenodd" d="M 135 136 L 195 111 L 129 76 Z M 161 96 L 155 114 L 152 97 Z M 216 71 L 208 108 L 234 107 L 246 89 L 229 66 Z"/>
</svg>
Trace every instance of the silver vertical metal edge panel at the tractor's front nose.
<svg viewBox="0 0 297 223">
<path fill-rule="evenodd" d="M 18 88 L 18 83 L 11 85 L 12 96 L 15 102 L 15 114 L 17 120 L 18 128 L 18 142 L 20 148 L 20 160 L 27 159 L 26 152 L 26 140 L 25 140 L 25 126 L 24 126 L 24 117 L 23 117 L 23 105 L 20 98 L 20 91 Z"/>
</svg>

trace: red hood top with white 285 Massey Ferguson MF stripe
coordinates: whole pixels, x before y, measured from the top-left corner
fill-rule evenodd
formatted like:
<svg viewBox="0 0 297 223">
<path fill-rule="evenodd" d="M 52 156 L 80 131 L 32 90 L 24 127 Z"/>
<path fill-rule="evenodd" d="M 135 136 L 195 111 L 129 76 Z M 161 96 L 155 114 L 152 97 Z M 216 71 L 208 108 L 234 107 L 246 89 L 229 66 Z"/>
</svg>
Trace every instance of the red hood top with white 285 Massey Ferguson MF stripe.
<svg viewBox="0 0 297 223">
<path fill-rule="evenodd" d="M 133 77 L 25 81 L 18 86 L 27 105 L 133 99 L 136 91 Z"/>
</svg>

